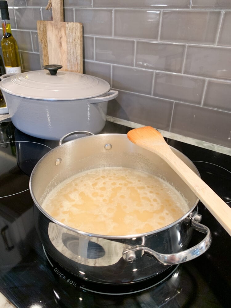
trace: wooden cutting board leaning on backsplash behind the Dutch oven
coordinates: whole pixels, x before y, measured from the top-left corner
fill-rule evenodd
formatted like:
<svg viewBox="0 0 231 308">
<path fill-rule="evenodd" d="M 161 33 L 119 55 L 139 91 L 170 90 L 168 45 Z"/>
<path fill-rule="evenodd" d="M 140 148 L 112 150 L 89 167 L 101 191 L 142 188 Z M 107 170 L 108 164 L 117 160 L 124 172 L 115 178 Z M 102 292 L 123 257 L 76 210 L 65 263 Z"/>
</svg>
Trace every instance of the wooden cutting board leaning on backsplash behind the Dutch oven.
<svg viewBox="0 0 231 308">
<path fill-rule="evenodd" d="M 60 64 L 63 71 L 83 73 L 83 26 L 63 21 L 63 0 L 52 0 L 53 21 L 37 21 L 41 66 Z"/>
</svg>

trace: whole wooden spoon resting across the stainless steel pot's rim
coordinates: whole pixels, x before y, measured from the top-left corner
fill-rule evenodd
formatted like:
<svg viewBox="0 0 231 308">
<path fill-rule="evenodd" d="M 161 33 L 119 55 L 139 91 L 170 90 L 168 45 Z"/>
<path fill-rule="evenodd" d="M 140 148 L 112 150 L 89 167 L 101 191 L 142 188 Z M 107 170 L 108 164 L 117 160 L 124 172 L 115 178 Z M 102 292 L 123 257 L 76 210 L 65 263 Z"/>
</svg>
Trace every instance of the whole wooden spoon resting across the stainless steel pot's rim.
<svg viewBox="0 0 231 308">
<path fill-rule="evenodd" d="M 157 154 L 165 160 L 231 235 L 231 208 L 229 205 L 172 152 L 160 132 L 151 126 L 145 126 L 132 129 L 127 135 L 128 139 L 134 144 Z"/>
</svg>

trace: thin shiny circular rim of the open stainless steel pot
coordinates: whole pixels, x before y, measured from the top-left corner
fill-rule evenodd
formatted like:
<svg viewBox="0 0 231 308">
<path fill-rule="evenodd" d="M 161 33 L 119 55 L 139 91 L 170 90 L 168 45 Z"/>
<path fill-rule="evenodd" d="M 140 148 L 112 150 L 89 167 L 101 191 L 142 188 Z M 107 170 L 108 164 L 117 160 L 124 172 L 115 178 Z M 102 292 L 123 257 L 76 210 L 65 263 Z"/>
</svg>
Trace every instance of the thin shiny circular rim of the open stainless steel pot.
<svg viewBox="0 0 231 308">
<path fill-rule="evenodd" d="M 110 136 L 112 135 L 111 133 L 107 133 L 107 134 L 101 134 L 101 135 L 104 135 L 104 136 Z M 126 134 L 113 134 L 113 135 L 126 135 Z M 87 138 L 92 138 L 94 137 L 95 135 L 93 136 L 87 136 Z M 82 138 L 86 138 L 86 137 L 82 137 Z M 81 138 L 81 139 L 82 139 Z M 75 143 L 78 139 L 75 139 L 75 140 L 70 140 L 70 141 L 67 141 L 66 143 Z M 65 146 L 65 143 L 59 145 L 58 147 L 64 147 Z M 57 149 L 58 147 L 52 149 L 51 151 Z M 170 148 L 173 148 L 172 146 L 169 146 Z M 176 148 L 173 148 L 175 151 L 177 152 L 180 152 L 179 150 L 177 150 Z M 47 154 L 45 154 L 41 159 L 43 159 L 45 156 L 47 156 L 51 151 L 49 151 Z M 185 156 L 188 160 L 189 158 L 184 155 L 184 153 L 180 152 L 183 156 Z M 40 160 L 39 160 L 40 161 Z M 54 217 L 52 217 L 51 215 L 49 215 L 43 208 L 42 206 L 38 203 L 38 201 L 36 200 L 36 198 L 34 197 L 34 194 L 33 194 L 33 191 L 32 191 L 32 177 L 33 177 L 33 173 L 34 173 L 34 170 L 36 168 L 36 166 L 39 164 L 39 161 L 38 163 L 34 166 L 34 169 L 32 170 L 31 172 L 31 175 L 30 175 L 30 181 L 29 181 L 29 188 L 30 188 L 30 194 L 31 194 L 31 197 L 34 201 L 34 204 L 37 206 L 37 208 L 40 210 L 40 212 L 42 212 L 49 220 L 51 220 L 51 222 L 54 222 L 55 224 L 58 224 L 60 225 L 61 227 L 65 228 L 65 229 L 68 229 L 72 232 L 75 232 L 75 233 L 78 233 L 78 234 L 81 234 L 81 235 L 85 235 L 85 236 L 89 236 L 89 237 L 100 237 L 100 238 L 105 238 L 105 239 L 110 239 L 110 240 L 113 240 L 113 239 L 130 239 L 130 238 L 135 238 L 135 237 L 143 237 L 143 236 L 148 236 L 148 235 L 151 235 L 151 234 L 155 234 L 155 233 L 159 233 L 161 231 L 164 231 L 166 229 L 169 229 L 171 228 L 172 226 L 178 224 L 180 221 L 184 220 L 186 217 L 188 217 L 192 212 L 193 210 L 195 209 L 195 207 L 197 206 L 197 203 L 199 202 L 199 198 L 196 199 L 196 201 L 194 202 L 193 206 L 191 207 L 191 209 L 188 210 L 188 212 L 186 212 L 183 216 L 181 216 L 179 219 L 177 219 L 176 221 L 173 221 L 171 224 L 169 225 L 166 225 L 160 229 L 156 229 L 156 230 L 152 230 L 152 231 L 149 231 L 149 232 L 145 232 L 145 233 L 138 233 L 138 234 L 129 234 L 129 235 L 103 235 L 103 234 L 95 234 L 95 233 L 89 233 L 89 232 L 85 232 L 85 231 L 82 231 L 82 230 L 79 230 L 79 229 L 75 229 L 75 228 L 72 228 L 68 225 L 65 225 L 63 224 L 62 222 L 56 220 Z M 189 160 L 191 161 L 191 160 Z M 192 161 L 191 161 L 192 162 Z M 192 162 L 193 164 L 193 162 Z M 194 165 L 194 164 L 193 164 Z M 197 169 L 197 167 L 194 165 L 195 167 L 195 171 L 197 172 L 197 175 L 200 176 L 200 173 Z M 200 176 L 201 177 L 201 176 Z"/>
</svg>

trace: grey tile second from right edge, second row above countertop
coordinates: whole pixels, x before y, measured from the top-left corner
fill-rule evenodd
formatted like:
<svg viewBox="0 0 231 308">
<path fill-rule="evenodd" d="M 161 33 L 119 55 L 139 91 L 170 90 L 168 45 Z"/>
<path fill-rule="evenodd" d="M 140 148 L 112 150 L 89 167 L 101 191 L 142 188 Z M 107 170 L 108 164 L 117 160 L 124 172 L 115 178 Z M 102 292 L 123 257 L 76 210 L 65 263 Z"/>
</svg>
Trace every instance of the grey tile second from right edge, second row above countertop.
<svg viewBox="0 0 231 308">
<path fill-rule="evenodd" d="M 200 105 L 204 87 L 205 79 L 157 71 L 153 95 Z"/>
</svg>

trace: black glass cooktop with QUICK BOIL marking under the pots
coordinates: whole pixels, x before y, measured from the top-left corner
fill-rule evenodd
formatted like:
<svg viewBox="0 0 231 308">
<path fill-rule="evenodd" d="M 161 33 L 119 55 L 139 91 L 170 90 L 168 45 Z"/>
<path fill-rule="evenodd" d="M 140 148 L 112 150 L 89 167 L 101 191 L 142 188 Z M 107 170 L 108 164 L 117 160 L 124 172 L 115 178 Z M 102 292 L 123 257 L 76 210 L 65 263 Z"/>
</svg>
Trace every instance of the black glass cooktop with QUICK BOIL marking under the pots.
<svg viewBox="0 0 231 308">
<path fill-rule="evenodd" d="M 103 132 L 131 128 L 107 122 Z M 231 205 L 231 156 L 167 140 L 198 168 L 202 179 Z M 212 232 L 200 257 L 148 281 L 126 286 L 86 283 L 66 272 L 43 249 L 35 231 L 29 178 L 37 161 L 58 141 L 28 136 L 0 122 L 0 291 L 16 307 L 230 307 L 231 238 L 199 202 L 201 223 Z M 203 235 L 202 235 L 203 236 Z M 201 234 L 193 233 L 190 245 Z"/>
</svg>

